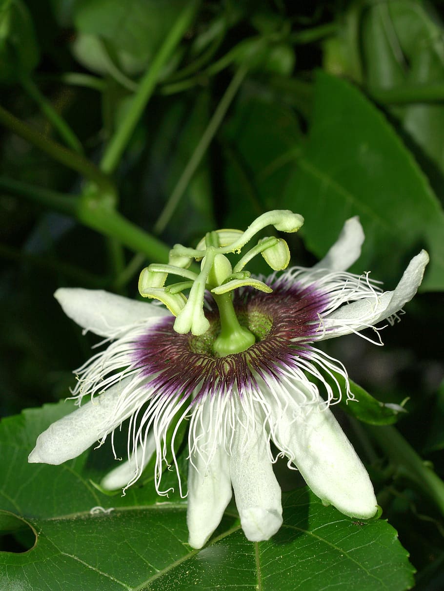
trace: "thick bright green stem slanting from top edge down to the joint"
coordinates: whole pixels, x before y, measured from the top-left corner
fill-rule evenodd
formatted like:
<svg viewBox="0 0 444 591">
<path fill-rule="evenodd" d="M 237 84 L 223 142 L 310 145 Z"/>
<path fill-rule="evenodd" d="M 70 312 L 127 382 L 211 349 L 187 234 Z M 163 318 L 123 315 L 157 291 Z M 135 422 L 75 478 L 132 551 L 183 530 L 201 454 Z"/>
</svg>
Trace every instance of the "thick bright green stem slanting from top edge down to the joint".
<svg viewBox="0 0 444 591">
<path fill-rule="evenodd" d="M 165 41 L 163 41 L 155 59 L 150 64 L 149 70 L 140 80 L 139 87 L 133 96 L 130 108 L 128 108 L 126 115 L 121 120 L 117 131 L 111 138 L 103 155 L 100 168 L 105 173 L 112 173 L 120 162 L 121 156 L 127 147 L 128 141 L 130 141 L 134 128 L 155 89 L 160 72 L 191 24 L 196 7 L 196 1 L 186 3 L 184 10 L 170 28 Z"/>
</svg>

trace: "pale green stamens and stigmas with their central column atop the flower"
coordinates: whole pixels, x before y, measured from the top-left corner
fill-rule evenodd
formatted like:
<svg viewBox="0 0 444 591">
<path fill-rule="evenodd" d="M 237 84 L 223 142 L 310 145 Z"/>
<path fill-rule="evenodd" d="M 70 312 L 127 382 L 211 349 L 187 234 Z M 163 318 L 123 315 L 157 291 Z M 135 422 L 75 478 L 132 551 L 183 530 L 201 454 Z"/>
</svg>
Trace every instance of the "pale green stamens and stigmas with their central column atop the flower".
<svg viewBox="0 0 444 591">
<path fill-rule="evenodd" d="M 256 336 L 240 324 L 234 310 L 231 291 L 253 287 L 270 293 L 271 287 L 250 277 L 250 272 L 243 270 L 244 266 L 253 256 L 261 254 L 272 269 L 284 269 L 289 262 L 289 250 L 284 240 L 271 237 L 261 239 L 244 254 L 234 268 L 231 267 L 226 255 L 239 253 L 243 246 L 266 226 L 272 225 L 282 232 L 296 232 L 303 222 L 303 217 L 296 213 L 274 210 L 259 216 L 245 232 L 235 229 L 208 232 L 195 249 L 176 244 L 169 252 L 168 265 L 150 265 L 144 269 L 140 277 L 140 293 L 144 297 L 154 297 L 163 301 L 176 316 L 176 332 L 182 335 L 191 332 L 192 335 L 200 337 L 210 328 L 214 332 L 218 330 L 218 323 L 210 325 L 204 313 L 205 290 L 210 291 L 220 317 L 220 334 L 212 337 L 213 353 L 221 357 L 240 353 L 256 342 Z M 186 270 L 192 259 L 201 261 L 199 274 Z M 164 288 L 162 286 L 167 274 L 179 275 L 186 281 Z M 187 300 L 182 291 L 188 289 L 190 291 Z M 211 345 L 208 346 L 211 348 Z"/>
</svg>

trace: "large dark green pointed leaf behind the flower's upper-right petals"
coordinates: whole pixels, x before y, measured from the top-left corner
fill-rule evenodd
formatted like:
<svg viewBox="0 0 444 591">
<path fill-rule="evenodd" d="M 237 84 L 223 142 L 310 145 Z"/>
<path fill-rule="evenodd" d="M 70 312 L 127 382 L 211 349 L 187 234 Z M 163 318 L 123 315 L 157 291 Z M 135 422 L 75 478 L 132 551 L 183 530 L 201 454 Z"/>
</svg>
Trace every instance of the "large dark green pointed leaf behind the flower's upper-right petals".
<svg viewBox="0 0 444 591">
<path fill-rule="evenodd" d="M 408 256 L 430 252 L 422 290 L 444 288 L 444 213 L 384 116 L 344 80 L 318 73 L 313 119 L 282 206 L 305 217 L 308 248 L 323 256 L 344 221 L 366 233 L 359 267 L 393 288 Z"/>
</svg>

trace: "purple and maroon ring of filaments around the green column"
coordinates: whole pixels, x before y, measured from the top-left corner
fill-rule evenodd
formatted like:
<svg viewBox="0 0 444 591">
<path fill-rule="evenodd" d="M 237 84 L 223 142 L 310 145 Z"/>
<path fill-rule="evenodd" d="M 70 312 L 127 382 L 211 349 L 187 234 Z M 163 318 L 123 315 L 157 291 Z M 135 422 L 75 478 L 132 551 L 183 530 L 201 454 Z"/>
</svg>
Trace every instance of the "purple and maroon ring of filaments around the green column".
<svg viewBox="0 0 444 591">
<path fill-rule="evenodd" d="M 272 284 L 274 294 L 258 293 L 247 287 L 237 293 L 233 307 L 239 324 L 254 335 L 249 348 L 217 355 L 214 343 L 220 334 L 218 310 L 205 310 L 208 330 L 203 335 L 181 335 L 167 317 L 134 343 L 133 367 L 150 378 L 156 395 L 188 397 L 205 395 L 242 395 L 255 388 L 258 379 L 275 379 L 280 374 L 300 371 L 311 358 L 311 343 L 316 340 L 319 314 L 328 306 L 321 291 L 302 285 Z M 267 378 L 268 376 L 268 378 Z"/>
</svg>

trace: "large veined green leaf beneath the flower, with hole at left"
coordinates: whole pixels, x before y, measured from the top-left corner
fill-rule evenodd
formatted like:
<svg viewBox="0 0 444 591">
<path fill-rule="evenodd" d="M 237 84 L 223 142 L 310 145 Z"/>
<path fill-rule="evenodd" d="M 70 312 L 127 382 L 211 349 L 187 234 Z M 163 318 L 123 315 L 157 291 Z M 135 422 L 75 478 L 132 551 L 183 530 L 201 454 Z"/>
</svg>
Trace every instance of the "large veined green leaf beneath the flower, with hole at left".
<svg viewBox="0 0 444 591">
<path fill-rule="evenodd" d="M 403 591 L 411 586 L 413 567 L 387 522 L 345 517 L 307 488 L 284 496 L 284 525 L 272 540 L 247 541 L 229 509 L 207 547 L 194 550 L 186 543 L 186 505 L 177 496 L 162 502 L 150 479 L 125 497 L 105 495 L 92 485 L 105 457 L 101 452 L 111 456 L 110 450 L 86 452 L 61 466 L 28 464 L 37 434 L 70 410 L 72 402 L 46 405 L 0 426 L 0 509 L 9 511 L 0 524 L 14 532 L 14 515 L 20 515 L 24 526 L 37 532 L 31 550 L 0 553 L 0 588 L 318 591 L 334 585 L 345 591 Z M 101 509 L 92 510 L 97 506 Z"/>
</svg>

